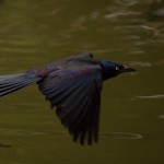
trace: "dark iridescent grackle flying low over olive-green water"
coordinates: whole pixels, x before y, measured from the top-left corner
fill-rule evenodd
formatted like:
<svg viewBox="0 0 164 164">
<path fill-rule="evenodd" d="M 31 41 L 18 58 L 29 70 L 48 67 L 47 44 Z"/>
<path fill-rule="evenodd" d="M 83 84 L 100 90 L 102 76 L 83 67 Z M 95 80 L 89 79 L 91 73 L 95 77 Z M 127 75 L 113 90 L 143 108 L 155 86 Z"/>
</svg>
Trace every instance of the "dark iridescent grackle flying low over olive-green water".
<svg viewBox="0 0 164 164">
<path fill-rule="evenodd" d="M 134 69 L 82 52 L 17 74 L 0 75 L 0 97 L 36 83 L 72 140 L 97 143 L 103 82 Z"/>
</svg>

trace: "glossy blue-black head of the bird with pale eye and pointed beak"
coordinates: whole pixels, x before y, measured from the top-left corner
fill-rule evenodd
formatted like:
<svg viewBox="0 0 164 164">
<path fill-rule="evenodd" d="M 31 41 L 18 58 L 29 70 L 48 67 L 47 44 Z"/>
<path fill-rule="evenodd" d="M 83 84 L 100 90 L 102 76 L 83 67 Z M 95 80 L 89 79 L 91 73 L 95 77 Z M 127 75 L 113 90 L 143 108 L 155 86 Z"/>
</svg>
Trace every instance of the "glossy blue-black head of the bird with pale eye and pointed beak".
<svg viewBox="0 0 164 164">
<path fill-rule="evenodd" d="M 116 77 L 120 73 L 124 73 L 124 72 L 136 71 L 134 69 L 129 68 L 127 66 L 122 66 L 122 65 L 117 63 L 117 62 L 105 61 L 105 60 L 101 61 L 101 67 L 102 67 L 102 72 L 103 72 L 103 80 L 114 78 L 114 77 Z"/>
</svg>

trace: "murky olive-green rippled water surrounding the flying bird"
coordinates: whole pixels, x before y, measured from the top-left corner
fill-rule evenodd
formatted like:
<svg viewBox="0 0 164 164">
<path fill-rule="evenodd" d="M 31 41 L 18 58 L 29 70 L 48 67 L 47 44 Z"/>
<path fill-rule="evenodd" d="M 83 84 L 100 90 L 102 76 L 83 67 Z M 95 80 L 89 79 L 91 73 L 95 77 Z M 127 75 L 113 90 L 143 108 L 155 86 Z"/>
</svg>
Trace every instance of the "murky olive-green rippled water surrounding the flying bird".
<svg viewBox="0 0 164 164">
<path fill-rule="evenodd" d="M 0 98 L 0 164 L 163 164 L 163 10 L 155 0 L 1 0 L 1 74 L 82 51 L 138 72 L 104 83 L 93 147 L 72 142 L 36 85 Z"/>
</svg>

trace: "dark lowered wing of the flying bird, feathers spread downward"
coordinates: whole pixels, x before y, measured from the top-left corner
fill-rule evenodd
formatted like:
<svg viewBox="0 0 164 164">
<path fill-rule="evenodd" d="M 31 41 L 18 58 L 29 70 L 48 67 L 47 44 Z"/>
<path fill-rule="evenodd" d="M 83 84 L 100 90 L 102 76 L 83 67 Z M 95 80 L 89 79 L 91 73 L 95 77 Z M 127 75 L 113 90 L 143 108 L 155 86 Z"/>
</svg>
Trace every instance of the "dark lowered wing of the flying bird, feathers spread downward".
<svg viewBox="0 0 164 164">
<path fill-rule="evenodd" d="M 57 107 L 74 141 L 92 144 L 98 139 L 102 74 L 99 67 L 58 70 L 40 81 L 39 91 Z"/>
</svg>

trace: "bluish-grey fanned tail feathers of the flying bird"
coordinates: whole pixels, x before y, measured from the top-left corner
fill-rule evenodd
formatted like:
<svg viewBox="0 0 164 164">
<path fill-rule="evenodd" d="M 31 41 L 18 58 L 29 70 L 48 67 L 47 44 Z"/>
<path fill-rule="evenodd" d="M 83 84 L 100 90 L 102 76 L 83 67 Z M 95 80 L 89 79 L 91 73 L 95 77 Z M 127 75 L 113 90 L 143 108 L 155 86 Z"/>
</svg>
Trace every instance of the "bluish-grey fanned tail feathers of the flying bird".
<svg viewBox="0 0 164 164">
<path fill-rule="evenodd" d="M 0 97 L 39 80 L 39 77 L 30 75 L 28 73 L 0 75 Z"/>
</svg>

